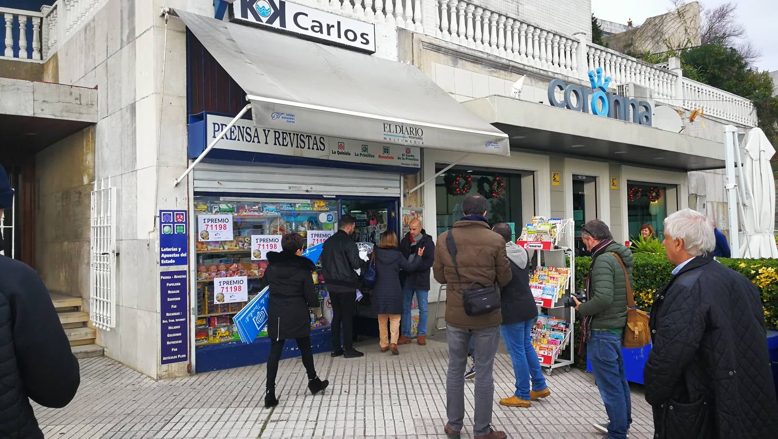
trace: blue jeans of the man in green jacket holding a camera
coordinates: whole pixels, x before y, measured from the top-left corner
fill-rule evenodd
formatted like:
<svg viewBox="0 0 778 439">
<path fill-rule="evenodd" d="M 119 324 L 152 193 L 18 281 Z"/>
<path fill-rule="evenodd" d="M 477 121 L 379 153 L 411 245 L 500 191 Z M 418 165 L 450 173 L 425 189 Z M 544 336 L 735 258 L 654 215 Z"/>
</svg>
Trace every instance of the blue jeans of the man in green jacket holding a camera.
<svg viewBox="0 0 778 439">
<path fill-rule="evenodd" d="M 598 329 L 591 330 L 587 357 L 597 380 L 608 424 L 608 439 L 625 439 L 632 423 L 629 383 L 624 375 L 622 335 Z"/>
</svg>

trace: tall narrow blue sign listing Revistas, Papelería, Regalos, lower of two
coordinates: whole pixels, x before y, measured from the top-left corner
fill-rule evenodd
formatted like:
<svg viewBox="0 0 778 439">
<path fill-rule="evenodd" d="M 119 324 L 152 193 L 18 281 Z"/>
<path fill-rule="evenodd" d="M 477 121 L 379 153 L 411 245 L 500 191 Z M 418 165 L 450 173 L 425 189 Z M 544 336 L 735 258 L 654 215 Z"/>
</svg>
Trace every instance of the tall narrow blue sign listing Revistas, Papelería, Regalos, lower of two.
<svg viewBox="0 0 778 439">
<path fill-rule="evenodd" d="M 162 338 L 160 364 L 189 361 L 187 325 L 187 271 L 159 274 L 159 336 Z"/>
</svg>

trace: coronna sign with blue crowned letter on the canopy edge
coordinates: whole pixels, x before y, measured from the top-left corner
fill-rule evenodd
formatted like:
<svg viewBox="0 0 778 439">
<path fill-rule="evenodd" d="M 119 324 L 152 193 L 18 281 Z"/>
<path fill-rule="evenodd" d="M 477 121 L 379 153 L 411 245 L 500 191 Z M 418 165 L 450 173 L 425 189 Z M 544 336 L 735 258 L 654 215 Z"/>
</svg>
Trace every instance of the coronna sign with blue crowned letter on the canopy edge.
<svg viewBox="0 0 778 439">
<path fill-rule="evenodd" d="M 635 124 L 651 126 L 651 104 L 627 96 L 608 93 L 611 78 L 602 78 L 602 68 L 589 71 L 591 88 L 584 85 L 566 84 L 562 79 L 548 83 L 548 103 L 573 111 L 583 111 L 595 116 L 626 120 Z M 564 93 L 562 100 L 556 99 L 556 90 Z"/>
</svg>

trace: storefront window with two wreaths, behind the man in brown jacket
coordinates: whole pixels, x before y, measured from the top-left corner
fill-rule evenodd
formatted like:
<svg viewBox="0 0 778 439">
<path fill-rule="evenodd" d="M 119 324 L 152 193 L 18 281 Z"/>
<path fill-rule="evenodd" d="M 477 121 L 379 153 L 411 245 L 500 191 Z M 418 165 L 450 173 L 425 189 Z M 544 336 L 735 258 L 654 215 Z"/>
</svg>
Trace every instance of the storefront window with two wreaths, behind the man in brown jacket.
<svg viewBox="0 0 778 439">
<path fill-rule="evenodd" d="M 471 194 L 480 194 L 489 200 L 489 211 L 486 213 L 489 225 L 506 222 L 513 227 L 514 234 L 521 233 L 523 223 L 519 174 L 453 168 L 437 177 L 435 190 L 438 235 L 462 218 L 462 201 Z M 513 239 L 516 238 L 514 235 Z"/>
</svg>

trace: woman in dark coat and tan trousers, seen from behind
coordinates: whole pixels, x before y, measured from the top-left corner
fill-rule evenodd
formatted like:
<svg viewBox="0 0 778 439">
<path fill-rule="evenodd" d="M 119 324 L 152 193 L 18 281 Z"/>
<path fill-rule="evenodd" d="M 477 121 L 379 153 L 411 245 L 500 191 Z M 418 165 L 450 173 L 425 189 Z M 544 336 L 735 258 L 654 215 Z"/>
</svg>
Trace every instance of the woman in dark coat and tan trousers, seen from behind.
<svg viewBox="0 0 778 439">
<path fill-rule="evenodd" d="M 381 352 L 391 349 L 394 355 L 400 354 L 397 340 L 400 337 L 400 317 L 402 315 L 402 287 L 400 270 L 412 272 L 422 263 L 424 247 L 419 248 L 419 257 L 408 262 L 397 249 L 397 234 L 386 231 L 381 234 L 380 244 L 373 251 L 376 262 L 376 286 L 373 287 L 373 309 L 378 315 L 378 333 Z M 391 326 L 391 345 L 387 336 L 387 323 Z"/>
</svg>

